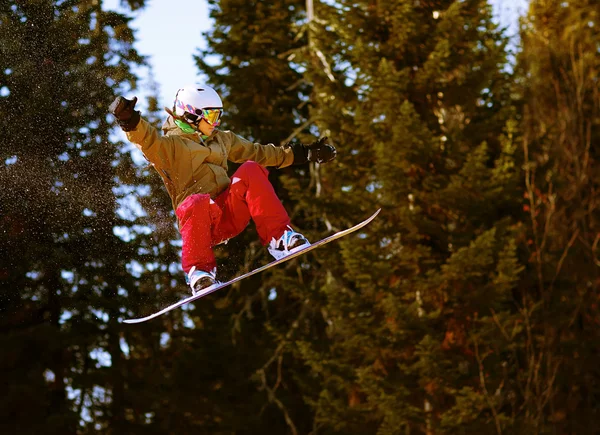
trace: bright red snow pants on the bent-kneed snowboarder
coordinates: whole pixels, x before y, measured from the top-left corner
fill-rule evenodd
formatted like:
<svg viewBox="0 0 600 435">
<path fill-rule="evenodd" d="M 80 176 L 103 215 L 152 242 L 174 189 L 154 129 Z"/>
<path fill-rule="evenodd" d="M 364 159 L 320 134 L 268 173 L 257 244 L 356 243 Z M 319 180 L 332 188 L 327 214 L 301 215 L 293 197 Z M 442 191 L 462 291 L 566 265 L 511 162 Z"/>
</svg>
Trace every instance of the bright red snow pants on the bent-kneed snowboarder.
<svg viewBox="0 0 600 435">
<path fill-rule="evenodd" d="M 248 161 L 233 174 L 231 185 L 215 200 L 206 194 L 190 195 L 177 207 L 185 273 L 192 266 L 204 271 L 215 268 L 212 248 L 241 233 L 250 218 L 263 245 L 273 237 L 281 237 L 290 218 L 268 174 L 258 163 Z"/>
</svg>

